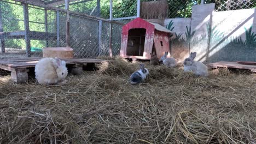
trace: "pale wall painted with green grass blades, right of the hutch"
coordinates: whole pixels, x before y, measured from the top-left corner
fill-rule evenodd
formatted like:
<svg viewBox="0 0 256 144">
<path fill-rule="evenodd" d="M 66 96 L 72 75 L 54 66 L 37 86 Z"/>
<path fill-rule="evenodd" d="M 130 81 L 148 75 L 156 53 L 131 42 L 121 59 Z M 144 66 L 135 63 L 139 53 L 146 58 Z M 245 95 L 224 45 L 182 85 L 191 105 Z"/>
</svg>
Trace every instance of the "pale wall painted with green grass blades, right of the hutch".
<svg viewBox="0 0 256 144">
<path fill-rule="evenodd" d="M 170 45 L 173 57 L 183 60 L 196 51 L 203 63 L 256 61 L 256 9 L 215 12 L 214 4 L 203 4 L 192 10 L 191 18 L 165 20 L 176 35 Z"/>
</svg>

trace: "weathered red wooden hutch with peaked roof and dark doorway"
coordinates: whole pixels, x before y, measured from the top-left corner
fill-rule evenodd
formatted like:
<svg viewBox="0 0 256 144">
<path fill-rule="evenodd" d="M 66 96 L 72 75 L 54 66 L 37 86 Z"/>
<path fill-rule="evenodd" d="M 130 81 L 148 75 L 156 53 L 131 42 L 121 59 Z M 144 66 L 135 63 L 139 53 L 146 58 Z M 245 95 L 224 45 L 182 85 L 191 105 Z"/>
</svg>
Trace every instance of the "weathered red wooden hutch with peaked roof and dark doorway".
<svg viewBox="0 0 256 144">
<path fill-rule="evenodd" d="M 150 53 L 155 52 L 160 58 L 165 51 L 170 52 L 171 35 L 174 33 L 158 23 L 138 17 L 123 26 L 120 56 L 150 59 Z"/>
</svg>

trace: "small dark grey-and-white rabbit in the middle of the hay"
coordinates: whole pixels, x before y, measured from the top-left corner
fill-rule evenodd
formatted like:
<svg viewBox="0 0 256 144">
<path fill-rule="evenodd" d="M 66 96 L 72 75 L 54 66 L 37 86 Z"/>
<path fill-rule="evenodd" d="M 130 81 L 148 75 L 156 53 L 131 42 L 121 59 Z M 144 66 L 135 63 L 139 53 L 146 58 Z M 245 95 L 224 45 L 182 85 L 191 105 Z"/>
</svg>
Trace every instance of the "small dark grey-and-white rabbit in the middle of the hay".
<svg viewBox="0 0 256 144">
<path fill-rule="evenodd" d="M 144 68 L 144 64 L 139 64 L 140 70 L 135 71 L 130 76 L 130 82 L 132 85 L 142 83 L 144 79 L 146 79 L 147 75 L 149 74 L 148 69 Z"/>
</svg>

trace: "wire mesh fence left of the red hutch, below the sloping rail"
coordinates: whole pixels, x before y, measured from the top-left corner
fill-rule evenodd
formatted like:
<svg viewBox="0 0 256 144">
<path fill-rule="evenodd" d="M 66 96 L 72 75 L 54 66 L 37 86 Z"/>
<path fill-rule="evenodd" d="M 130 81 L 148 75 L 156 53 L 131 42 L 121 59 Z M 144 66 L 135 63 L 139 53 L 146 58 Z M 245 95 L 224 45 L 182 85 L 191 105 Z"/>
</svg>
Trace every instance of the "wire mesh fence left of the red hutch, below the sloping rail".
<svg viewBox="0 0 256 144">
<path fill-rule="evenodd" d="M 25 7 L 28 24 L 24 17 Z M 65 12 L 8 1 L 1 2 L 1 9 L 5 37 L 2 57 L 42 57 L 43 47 L 66 47 Z M 69 22 L 70 46 L 75 57 L 109 55 L 110 22 L 75 14 L 69 14 Z M 112 24 L 113 55 L 119 55 L 122 26 Z M 30 51 L 27 51 L 27 45 L 31 47 Z"/>
</svg>

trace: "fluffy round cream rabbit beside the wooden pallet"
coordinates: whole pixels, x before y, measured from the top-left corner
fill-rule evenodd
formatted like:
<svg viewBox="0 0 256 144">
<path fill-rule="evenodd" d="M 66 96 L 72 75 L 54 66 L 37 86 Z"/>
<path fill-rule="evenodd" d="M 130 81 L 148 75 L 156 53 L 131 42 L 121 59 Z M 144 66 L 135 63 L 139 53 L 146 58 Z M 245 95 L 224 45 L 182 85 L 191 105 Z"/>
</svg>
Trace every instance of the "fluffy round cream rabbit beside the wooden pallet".
<svg viewBox="0 0 256 144">
<path fill-rule="evenodd" d="M 66 62 L 59 58 L 42 58 L 34 68 L 38 83 L 43 85 L 66 83 L 68 74 Z"/>
</svg>

